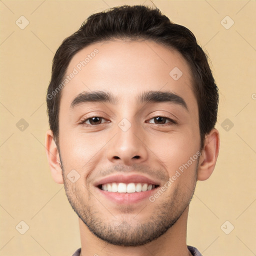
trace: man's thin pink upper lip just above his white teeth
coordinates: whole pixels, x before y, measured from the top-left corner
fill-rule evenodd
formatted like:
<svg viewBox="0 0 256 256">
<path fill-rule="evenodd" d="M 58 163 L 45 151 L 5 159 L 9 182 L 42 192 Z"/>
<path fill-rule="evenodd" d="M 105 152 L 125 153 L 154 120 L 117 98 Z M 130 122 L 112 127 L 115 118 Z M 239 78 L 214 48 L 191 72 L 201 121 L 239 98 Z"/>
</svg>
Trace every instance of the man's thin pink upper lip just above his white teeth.
<svg viewBox="0 0 256 256">
<path fill-rule="evenodd" d="M 104 177 L 102 179 L 97 180 L 94 185 L 98 186 L 105 183 L 112 183 L 112 182 L 122 182 L 122 183 L 132 183 L 132 182 L 140 182 L 140 183 L 147 183 L 152 185 L 159 185 L 159 181 L 153 180 L 146 176 L 142 176 L 140 174 L 130 174 L 130 175 L 123 175 L 123 174 L 115 174 L 111 176 Z"/>
</svg>

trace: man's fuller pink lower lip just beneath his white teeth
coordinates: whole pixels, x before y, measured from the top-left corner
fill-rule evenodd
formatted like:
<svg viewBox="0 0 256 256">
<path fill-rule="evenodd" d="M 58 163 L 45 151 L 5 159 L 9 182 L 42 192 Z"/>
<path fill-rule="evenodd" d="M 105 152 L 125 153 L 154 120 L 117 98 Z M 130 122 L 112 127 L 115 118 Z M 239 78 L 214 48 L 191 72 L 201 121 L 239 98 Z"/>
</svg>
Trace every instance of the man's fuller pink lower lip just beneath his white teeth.
<svg viewBox="0 0 256 256">
<path fill-rule="evenodd" d="M 99 190 L 100 194 L 105 196 L 107 199 L 117 203 L 135 203 L 135 202 L 139 202 L 142 199 L 146 199 L 146 198 L 148 199 L 151 194 L 155 193 L 157 188 L 158 187 L 155 187 L 151 190 L 134 192 L 134 193 L 118 193 L 118 192 L 108 192 L 96 187 L 96 189 Z"/>
</svg>

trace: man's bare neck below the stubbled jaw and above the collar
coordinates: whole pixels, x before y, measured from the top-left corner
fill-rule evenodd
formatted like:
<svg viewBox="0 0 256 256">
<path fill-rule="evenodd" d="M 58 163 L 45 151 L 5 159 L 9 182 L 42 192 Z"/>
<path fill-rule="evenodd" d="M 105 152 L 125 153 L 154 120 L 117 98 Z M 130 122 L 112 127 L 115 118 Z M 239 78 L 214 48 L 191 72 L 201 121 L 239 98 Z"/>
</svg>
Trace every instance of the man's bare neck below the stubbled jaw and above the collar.
<svg viewBox="0 0 256 256">
<path fill-rule="evenodd" d="M 188 207 L 179 219 L 157 239 L 140 246 L 119 246 L 107 243 L 96 237 L 79 218 L 81 239 L 80 256 L 190 256 L 192 255 L 186 245 L 186 226 Z"/>
</svg>

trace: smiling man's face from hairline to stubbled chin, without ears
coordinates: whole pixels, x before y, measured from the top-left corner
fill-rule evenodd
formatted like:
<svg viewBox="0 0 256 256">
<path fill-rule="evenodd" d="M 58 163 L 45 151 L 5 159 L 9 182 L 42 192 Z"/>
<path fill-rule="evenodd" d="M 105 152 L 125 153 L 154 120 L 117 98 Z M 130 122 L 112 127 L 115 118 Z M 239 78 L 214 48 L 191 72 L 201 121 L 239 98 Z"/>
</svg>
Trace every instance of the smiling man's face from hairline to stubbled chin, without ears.
<svg viewBox="0 0 256 256">
<path fill-rule="evenodd" d="M 98 52 L 91 54 L 95 48 Z M 87 64 L 79 65 L 88 54 Z M 66 74 L 74 68 L 78 73 L 62 89 L 59 111 L 67 198 L 97 237 L 118 245 L 145 244 L 177 221 L 196 184 L 200 135 L 188 64 L 178 52 L 152 41 L 118 40 L 85 47 Z M 76 98 L 98 91 L 115 100 Z M 157 92 L 172 94 L 157 99 Z M 72 182 L 67 175 L 78 179 Z M 145 181 L 136 182 L 141 176 L 158 186 L 132 193 L 101 190 L 106 183 L 101 179 L 113 175 L 122 177 L 107 182 L 108 187 L 131 175 L 125 183 L 134 185 L 128 189 L 139 189 L 138 183 L 143 187 Z"/>
</svg>

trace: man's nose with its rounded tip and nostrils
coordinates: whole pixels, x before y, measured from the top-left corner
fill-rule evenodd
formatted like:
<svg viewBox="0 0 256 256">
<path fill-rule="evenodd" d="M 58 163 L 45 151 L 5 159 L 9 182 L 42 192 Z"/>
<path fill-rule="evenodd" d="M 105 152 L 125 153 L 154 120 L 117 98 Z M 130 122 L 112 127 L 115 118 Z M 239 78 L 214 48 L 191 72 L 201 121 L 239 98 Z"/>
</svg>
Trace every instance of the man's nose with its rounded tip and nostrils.
<svg viewBox="0 0 256 256">
<path fill-rule="evenodd" d="M 113 163 L 131 165 L 140 163 L 147 158 L 147 146 L 143 141 L 142 132 L 135 125 L 124 131 L 117 126 L 115 136 L 110 140 L 107 148 L 107 158 Z"/>
</svg>

